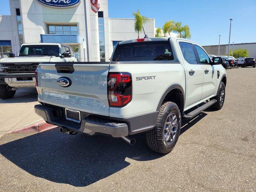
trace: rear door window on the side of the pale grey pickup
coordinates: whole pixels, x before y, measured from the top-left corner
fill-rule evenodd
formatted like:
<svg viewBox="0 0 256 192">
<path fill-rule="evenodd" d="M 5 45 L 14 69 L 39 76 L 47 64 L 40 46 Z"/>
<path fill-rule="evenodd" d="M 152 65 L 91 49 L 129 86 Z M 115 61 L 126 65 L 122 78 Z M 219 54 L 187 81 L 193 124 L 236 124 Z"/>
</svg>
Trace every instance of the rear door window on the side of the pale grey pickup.
<svg viewBox="0 0 256 192">
<path fill-rule="evenodd" d="M 197 64 L 196 55 L 191 43 L 179 42 L 180 48 L 186 62 L 190 64 Z"/>
</svg>

